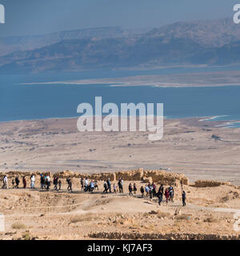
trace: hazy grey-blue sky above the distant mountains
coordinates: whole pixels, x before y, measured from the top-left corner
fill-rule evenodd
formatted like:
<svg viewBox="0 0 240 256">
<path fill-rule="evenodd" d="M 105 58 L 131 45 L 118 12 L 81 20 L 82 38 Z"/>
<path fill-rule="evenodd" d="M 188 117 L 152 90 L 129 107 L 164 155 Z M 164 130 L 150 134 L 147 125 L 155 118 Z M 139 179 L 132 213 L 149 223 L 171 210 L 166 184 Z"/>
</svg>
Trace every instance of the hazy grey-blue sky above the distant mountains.
<svg viewBox="0 0 240 256">
<path fill-rule="evenodd" d="M 0 0 L 0 37 L 98 26 L 158 27 L 233 16 L 240 0 Z"/>
</svg>

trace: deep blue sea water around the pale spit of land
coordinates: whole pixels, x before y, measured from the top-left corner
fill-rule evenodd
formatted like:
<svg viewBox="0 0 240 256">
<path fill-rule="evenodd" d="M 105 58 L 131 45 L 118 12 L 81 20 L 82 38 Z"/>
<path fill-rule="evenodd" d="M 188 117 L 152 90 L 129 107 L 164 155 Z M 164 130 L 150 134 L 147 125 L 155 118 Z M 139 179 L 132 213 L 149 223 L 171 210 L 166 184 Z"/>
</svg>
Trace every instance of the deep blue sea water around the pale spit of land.
<svg viewBox="0 0 240 256">
<path fill-rule="evenodd" d="M 235 67 L 239 69 L 239 67 Z M 222 67 L 207 68 L 208 71 Z M 226 69 L 226 68 L 225 68 Z M 38 118 L 76 117 L 77 106 L 102 96 L 102 103 L 164 103 L 167 118 L 218 116 L 222 120 L 240 120 L 240 86 L 158 88 L 151 86 L 111 87 L 108 85 L 21 85 L 27 82 L 54 82 L 87 78 L 119 78 L 138 74 L 176 74 L 196 69 L 146 71 L 88 71 L 61 74 L 1 75 L 0 122 Z M 198 69 L 206 72 L 206 68 Z M 240 84 L 240 82 L 239 82 Z M 219 117 L 220 116 L 220 117 Z M 234 126 L 238 126 L 235 124 Z"/>
</svg>

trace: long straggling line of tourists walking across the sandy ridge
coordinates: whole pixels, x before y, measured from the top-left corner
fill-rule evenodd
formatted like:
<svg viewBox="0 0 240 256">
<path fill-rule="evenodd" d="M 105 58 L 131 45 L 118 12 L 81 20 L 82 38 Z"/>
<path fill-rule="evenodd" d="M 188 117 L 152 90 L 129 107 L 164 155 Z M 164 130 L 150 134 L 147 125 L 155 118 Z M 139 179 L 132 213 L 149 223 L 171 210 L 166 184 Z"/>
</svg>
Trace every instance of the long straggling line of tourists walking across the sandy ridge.
<svg viewBox="0 0 240 256">
<path fill-rule="evenodd" d="M 30 176 L 30 189 L 35 189 L 35 175 L 32 174 Z M 3 185 L 2 185 L 2 189 L 8 189 L 8 178 L 6 175 L 4 175 L 3 179 L 2 179 Z M 73 192 L 73 181 L 72 178 L 68 177 L 66 178 L 66 182 L 67 182 L 67 190 L 69 192 Z M 12 179 L 12 186 L 13 188 L 18 189 L 19 188 L 19 177 L 15 177 L 14 179 Z M 62 187 L 62 180 L 60 178 L 58 178 L 58 176 L 54 176 L 54 190 L 61 190 Z M 26 177 L 23 176 L 22 177 L 22 184 L 23 184 L 23 188 L 26 189 Z M 50 190 L 50 185 L 51 185 L 51 181 L 50 181 L 50 175 L 49 174 L 40 174 L 40 186 L 42 190 Z M 81 185 L 81 190 L 83 190 L 84 192 L 91 192 L 93 193 L 94 190 L 98 190 L 98 181 L 96 180 L 91 180 L 89 181 L 88 178 L 81 178 L 80 179 L 80 185 Z M 117 193 L 117 189 L 119 193 L 123 193 L 123 179 L 119 178 L 118 179 L 118 185 L 116 186 L 116 184 L 113 184 L 113 191 L 111 190 L 111 182 L 110 182 L 110 178 L 107 178 L 104 182 L 103 182 L 103 193 L 111 193 L 113 192 L 114 194 Z M 132 183 L 129 184 L 128 186 L 129 189 L 129 195 L 133 196 L 134 194 L 137 193 L 137 186 L 136 183 L 134 183 L 132 185 Z M 166 189 L 164 190 L 164 186 L 161 185 L 158 189 L 157 192 L 157 186 L 154 184 L 154 182 L 152 182 L 151 184 L 146 184 L 145 187 L 141 186 L 140 188 L 140 192 L 142 194 L 142 197 L 145 196 L 149 197 L 150 199 L 157 197 L 158 198 L 158 205 L 161 206 L 161 202 L 163 199 L 163 196 L 165 196 L 166 198 L 166 203 L 168 202 L 174 202 L 174 187 L 173 186 L 168 186 L 166 187 Z M 183 190 L 182 191 L 182 206 L 186 206 L 186 193 Z"/>
</svg>

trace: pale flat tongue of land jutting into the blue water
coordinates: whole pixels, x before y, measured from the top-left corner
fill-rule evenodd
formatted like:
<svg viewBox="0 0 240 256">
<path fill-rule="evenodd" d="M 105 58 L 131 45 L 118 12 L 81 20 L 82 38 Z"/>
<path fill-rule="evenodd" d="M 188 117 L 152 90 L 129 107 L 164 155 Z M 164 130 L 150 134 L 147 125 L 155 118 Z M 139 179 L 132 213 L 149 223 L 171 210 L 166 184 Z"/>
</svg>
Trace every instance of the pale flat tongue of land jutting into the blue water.
<svg viewBox="0 0 240 256">
<path fill-rule="evenodd" d="M 240 86 L 239 71 L 219 71 L 185 74 L 148 74 L 122 78 L 90 78 L 55 82 L 30 82 L 21 85 L 108 85 L 155 86 L 169 88 Z"/>
</svg>

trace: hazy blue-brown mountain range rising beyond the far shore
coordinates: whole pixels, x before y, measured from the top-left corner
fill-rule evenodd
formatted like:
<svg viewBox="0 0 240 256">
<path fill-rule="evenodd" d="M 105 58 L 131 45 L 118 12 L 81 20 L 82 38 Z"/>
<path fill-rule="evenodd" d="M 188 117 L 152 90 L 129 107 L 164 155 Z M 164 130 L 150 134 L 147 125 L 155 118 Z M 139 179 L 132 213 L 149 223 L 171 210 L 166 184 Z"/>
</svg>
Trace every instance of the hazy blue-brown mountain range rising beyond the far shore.
<svg viewBox="0 0 240 256">
<path fill-rule="evenodd" d="M 0 38 L 1 44 L 9 47 L 8 53 L 18 50 L 0 57 L 0 72 L 240 63 L 240 25 L 230 18 L 177 22 L 153 30 L 104 27 Z"/>
</svg>

